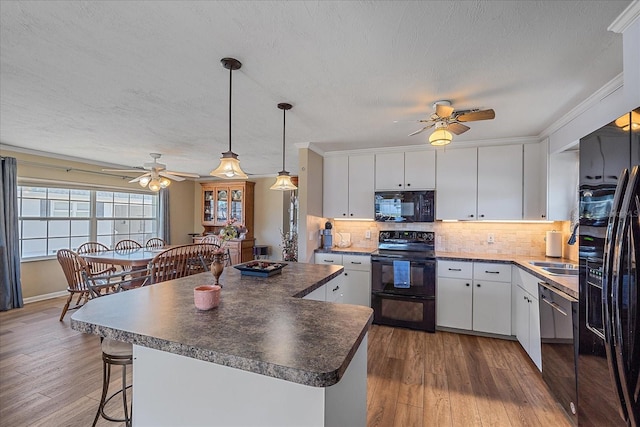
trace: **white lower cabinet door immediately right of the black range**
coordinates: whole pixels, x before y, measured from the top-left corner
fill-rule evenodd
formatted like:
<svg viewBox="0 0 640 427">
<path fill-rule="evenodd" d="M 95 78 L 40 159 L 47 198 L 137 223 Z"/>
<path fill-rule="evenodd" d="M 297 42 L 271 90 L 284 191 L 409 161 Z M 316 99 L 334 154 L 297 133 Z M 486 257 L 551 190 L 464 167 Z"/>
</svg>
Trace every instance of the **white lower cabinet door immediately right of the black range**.
<svg viewBox="0 0 640 427">
<path fill-rule="evenodd" d="M 471 330 L 471 280 L 438 277 L 436 320 L 438 326 Z"/>
</svg>

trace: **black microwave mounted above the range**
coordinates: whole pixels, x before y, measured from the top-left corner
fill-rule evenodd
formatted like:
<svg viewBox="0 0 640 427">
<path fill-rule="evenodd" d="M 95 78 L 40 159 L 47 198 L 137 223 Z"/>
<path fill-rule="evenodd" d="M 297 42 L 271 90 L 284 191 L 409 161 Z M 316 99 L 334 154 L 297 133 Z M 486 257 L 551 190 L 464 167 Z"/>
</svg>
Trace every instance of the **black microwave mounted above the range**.
<svg viewBox="0 0 640 427">
<path fill-rule="evenodd" d="M 433 222 L 434 191 L 376 191 L 376 221 Z"/>
</svg>

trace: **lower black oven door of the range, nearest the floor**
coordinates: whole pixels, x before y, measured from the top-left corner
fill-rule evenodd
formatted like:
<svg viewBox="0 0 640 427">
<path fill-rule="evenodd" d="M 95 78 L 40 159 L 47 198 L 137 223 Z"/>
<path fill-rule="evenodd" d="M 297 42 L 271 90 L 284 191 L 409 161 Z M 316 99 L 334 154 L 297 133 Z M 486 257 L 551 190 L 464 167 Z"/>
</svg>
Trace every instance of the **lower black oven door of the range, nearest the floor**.
<svg viewBox="0 0 640 427">
<path fill-rule="evenodd" d="M 373 292 L 373 323 L 421 331 L 436 331 L 435 298 L 410 297 Z"/>
</svg>

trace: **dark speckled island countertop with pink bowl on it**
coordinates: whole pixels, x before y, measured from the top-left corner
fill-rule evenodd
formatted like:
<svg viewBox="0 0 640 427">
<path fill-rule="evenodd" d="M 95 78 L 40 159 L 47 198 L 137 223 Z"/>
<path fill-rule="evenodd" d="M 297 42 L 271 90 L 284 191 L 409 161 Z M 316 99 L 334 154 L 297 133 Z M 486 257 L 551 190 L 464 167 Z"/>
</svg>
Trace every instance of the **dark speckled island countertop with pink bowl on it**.
<svg viewBox="0 0 640 427">
<path fill-rule="evenodd" d="M 77 331 L 314 387 L 336 384 L 364 339 L 368 307 L 302 299 L 342 266 L 288 263 L 268 278 L 225 268 L 221 303 L 193 304 L 211 273 L 89 301 L 71 317 Z"/>
</svg>

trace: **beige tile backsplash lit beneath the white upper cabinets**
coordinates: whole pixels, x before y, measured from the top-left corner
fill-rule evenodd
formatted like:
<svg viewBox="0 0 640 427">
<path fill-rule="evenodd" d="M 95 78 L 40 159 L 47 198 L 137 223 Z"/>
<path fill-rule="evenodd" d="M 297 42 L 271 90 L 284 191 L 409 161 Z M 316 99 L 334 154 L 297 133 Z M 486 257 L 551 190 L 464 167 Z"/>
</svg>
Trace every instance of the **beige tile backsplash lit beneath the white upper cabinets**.
<svg viewBox="0 0 640 427">
<path fill-rule="evenodd" d="M 512 222 L 434 222 L 413 224 L 386 224 L 374 221 L 334 221 L 336 232 L 351 234 L 353 248 L 375 248 L 381 230 L 417 230 L 436 233 L 436 250 L 443 252 L 485 253 L 519 256 L 544 256 L 547 231 L 562 231 L 563 239 L 569 239 L 569 221 L 553 223 Z M 367 239 L 367 231 L 371 238 Z M 494 243 L 488 243 L 489 234 Z M 577 245 L 564 245 L 563 257 L 577 260 Z"/>
</svg>

